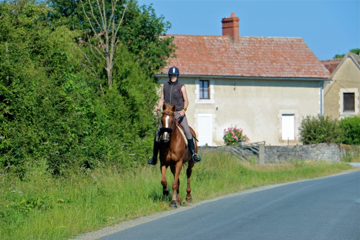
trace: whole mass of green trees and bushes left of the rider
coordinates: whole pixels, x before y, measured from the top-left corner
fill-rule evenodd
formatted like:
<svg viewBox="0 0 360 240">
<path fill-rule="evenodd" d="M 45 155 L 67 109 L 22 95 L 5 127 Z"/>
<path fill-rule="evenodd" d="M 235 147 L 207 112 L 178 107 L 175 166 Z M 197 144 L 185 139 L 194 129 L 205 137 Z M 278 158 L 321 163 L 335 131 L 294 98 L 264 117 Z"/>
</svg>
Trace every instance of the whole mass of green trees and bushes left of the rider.
<svg viewBox="0 0 360 240">
<path fill-rule="evenodd" d="M 111 9 L 113 1 L 101 2 Z M 83 2 L 85 11 L 97 9 L 96 1 Z M 170 23 L 151 6 L 130 0 L 124 13 L 125 4 L 117 1 L 113 16 L 119 31 L 110 85 L 101 56 L 92 54 L 104 34 L 84 20 L 80 1 L 1 1 L 1 169 L 25 174 L 36 160 L 62 174 L 99 161 L 145 161 L 156 127 L 149 111 L 158 99 L 154 73 L 174 45 L 163 37 Z"/>
</svg>

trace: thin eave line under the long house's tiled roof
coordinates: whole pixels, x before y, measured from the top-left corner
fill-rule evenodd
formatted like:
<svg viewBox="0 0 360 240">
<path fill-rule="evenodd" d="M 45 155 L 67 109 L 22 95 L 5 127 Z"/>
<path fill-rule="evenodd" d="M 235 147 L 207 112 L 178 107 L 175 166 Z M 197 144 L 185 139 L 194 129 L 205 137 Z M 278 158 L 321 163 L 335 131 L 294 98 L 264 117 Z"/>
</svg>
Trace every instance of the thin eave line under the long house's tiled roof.
<svg viewBox="0 0 360 240">
<path fill-rule="evenodd" d="M 180 75 L 181 78 L 213 78 L 213 79 L 250 79 L 250 80 L 300 80 L 300 81 L 331 81 L 323 78 L 288 78 L 288 77 L 246 77 L 246 76 L 212 76 L 212 75 Z M 168 77 L 167 74 L 156 74 L 156 77 Z"/>
</svg>

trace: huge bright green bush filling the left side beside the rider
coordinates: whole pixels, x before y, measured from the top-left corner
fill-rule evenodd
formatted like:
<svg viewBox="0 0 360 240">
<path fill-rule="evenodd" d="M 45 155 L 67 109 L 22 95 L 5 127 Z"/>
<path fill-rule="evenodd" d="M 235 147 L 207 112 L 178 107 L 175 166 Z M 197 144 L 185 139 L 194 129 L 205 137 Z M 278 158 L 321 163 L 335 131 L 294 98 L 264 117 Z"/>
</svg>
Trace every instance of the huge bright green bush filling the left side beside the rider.
<svg viewBox="0 0 360 240">
<path fill-rule="evenodd" d="M 53 173 L 98 161 L 145 162 L 157 83 L 123 44 L 113 87 L 101 94 L 83 58 L 88 49 L 77 42 L 81 30 L 55 24 L 51 14 L 33 0 L 0 3 L 0 169 L 23 171 L 34 160 Z"/>
</svg>

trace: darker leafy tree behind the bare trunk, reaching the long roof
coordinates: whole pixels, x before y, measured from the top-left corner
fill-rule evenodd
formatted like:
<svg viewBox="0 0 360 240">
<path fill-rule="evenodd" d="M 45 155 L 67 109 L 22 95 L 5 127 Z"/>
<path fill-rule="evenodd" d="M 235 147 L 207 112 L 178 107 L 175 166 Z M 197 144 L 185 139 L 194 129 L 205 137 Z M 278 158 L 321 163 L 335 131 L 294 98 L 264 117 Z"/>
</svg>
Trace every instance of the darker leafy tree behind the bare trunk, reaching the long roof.
<svg viewBox="0 0 360 240">
<path fill-rule="evenodd" d="M 83 1 L 83 3 L 85 10 L 91 12 L 88 1 Z M 105 5 L 106 9 L 111 9 L 111 0 L 105 0 Z M 124 4 L 117 5 L 120 5 L 120 7 L 115 9 L 114 18 L 121 19 Z M 50 15 L 54 24 L 66 25 L 71 30 L 81 30 L 85 31 L 85 33 L 93 31 L 80 1 L 50 0 L 49 6 L 55 10 Z M 96 4 L 93 5 L 93 9 L 94 13 L 99 11 L 96 10 Z M 99 16 L 97 17 L 99 18 Z M 138 62 L 142 70 L 155 82 L 155 73 L 166 66 L 169 57 L 174 56 L 176 50 L 173 38 L 166 37 L 166 32 L 171 28 L 171 24 L 164 21 L 164 19 L 164 16 L 156 16 L 151 4 L 149 6 L 139 6 L 136 0 L 129 0 L 123 22 L 118 31 L 118 43 L 127 48 L 133 60 Z M 87 38 L 86 34 L 83 34 L 81 38 L 81 40 L 88 42 L 88 40 L 85 40 Z M 96 41 L 95 39 L 92 40 Z M 91 51 L 88 54 L 89 58 L 90 55 L 92 55 Z M 103 73 L 101 69 L 96 66 L 94 68 L 97 69 L 99 78 L 102 79 Z"/>
</svg>

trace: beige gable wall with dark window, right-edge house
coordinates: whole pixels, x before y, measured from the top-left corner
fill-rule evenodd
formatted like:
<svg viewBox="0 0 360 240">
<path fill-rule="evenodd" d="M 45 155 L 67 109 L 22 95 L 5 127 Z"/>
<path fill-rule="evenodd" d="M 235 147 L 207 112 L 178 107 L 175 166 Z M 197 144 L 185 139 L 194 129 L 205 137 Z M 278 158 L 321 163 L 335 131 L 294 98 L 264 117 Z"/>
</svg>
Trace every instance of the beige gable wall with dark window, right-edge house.
<svg viewBox="0 0 360 240">
<path fill-rule="evenodd" d="M 360 70 L 354 61 L 348 57 L 335 72 L 332 81 L 324 88 L 324 115 L 332 116 L 333 119 L 341 119 L 346 116 L 359 115 L 359 87 Z M 343 92 L 355 92 L 354 113 L 342 111 Z"/>
</svg>

